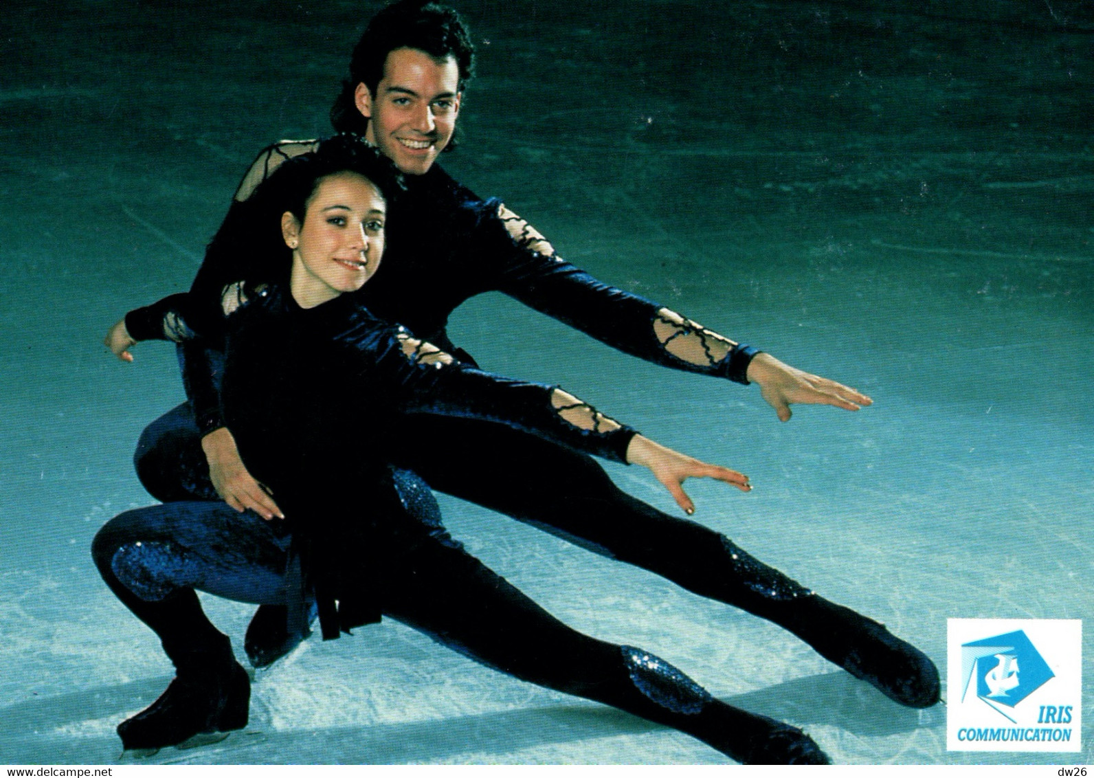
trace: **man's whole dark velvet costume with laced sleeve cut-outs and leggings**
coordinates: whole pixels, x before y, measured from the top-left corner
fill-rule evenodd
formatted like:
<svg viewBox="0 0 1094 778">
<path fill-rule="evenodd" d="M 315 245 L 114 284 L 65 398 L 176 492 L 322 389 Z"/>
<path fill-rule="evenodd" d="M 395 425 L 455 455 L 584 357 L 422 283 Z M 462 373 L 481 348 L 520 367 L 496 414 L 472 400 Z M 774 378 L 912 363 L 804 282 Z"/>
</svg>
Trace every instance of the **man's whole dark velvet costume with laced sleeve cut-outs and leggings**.
<svg viewBox="0 0 1094 778">
<path fill-rule="evenodd" d="M 276 272 L 247 259 L 255 229 L 247 197 L 283 158 L 314 146 L 284 142 L 259 155 L 209 245 L 191 294 L 219 301 L 226 285 Z M 388 213 L 383 263 L 359 292 L 345 295 L 376 316 L 407 325 L 474 364 L 449 339 L 449 315 L 469 297 L 497 290 L 637 357 L 747 383 L 755 349 L 574 268 L 524 220 L 497 200 L 478 198 L 439 165 L 407 179 L 407 193 Z M 185 340 L 170 305 L 131 312 L 126 324 L 137 339 Z M 698 348 L 676 348 L 685 341 Z M 678 356 L 685 352 L 700 357 Z M 200 437 L 224 421 L 218 397 L 222 355 L 188 341 L 179 357 L 190 402 L 144 431 L 137 471 L 161 500 L 217 499 Z M 754 559 L 725 536 L 632 498 L 589 455 L 480 419 L 414 414 L 400 418 L 398 429 L 385 442 L 385 455 L 433 489 L 770 619 L 905 705 L 938 700 L 936 670 L 913 647 Z M 284 509 L 280 495 L 276 499 Z"/>
</svg>

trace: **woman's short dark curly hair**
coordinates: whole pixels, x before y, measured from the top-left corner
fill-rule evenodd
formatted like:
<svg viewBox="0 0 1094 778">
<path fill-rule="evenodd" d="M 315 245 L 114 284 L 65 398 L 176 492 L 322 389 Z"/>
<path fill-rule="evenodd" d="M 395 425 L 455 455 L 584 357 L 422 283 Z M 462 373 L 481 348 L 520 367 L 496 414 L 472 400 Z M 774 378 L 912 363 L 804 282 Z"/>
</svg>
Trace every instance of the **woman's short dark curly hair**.
<svg viewBox="0 0 1094 778">
<path fill-rule="evenodd" d="M 282 162 L 259 184 L 247 200 L 238 204 L 249 211 L 247 221 L 256 225 L 257 234 L 248 253 L 270 257 L 287 255 L 281 237 L 281 214 L 292 213 L 303 223 L 307 202 L 324 178 L 337 173 L 357 173 L 380 190 L 388 208 L 405 190 L 403 174 L 360 136 L 341 132 L 319 142 L 318 149 Z M 289 253 L 291 254 L 291 252 Z"/>
</svg>

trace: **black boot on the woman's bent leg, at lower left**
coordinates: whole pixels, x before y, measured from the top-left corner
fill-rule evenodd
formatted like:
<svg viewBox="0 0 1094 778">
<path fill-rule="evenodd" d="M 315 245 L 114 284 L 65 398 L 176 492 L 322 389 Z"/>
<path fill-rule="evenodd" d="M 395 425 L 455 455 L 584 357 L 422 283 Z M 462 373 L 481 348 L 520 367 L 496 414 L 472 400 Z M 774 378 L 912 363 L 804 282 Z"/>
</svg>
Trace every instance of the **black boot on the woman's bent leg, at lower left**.
<svg viewBox="0 0 1094 778">
<path fill-rule="evenodd" d="M 164 650 L 175 663 L 175 680 L 151 706 L 118 724 L 124 747 L 162 748 L 247 725 L 251 680 L 225 636 L 183 649 L 165 642 Z"/>
</svg>

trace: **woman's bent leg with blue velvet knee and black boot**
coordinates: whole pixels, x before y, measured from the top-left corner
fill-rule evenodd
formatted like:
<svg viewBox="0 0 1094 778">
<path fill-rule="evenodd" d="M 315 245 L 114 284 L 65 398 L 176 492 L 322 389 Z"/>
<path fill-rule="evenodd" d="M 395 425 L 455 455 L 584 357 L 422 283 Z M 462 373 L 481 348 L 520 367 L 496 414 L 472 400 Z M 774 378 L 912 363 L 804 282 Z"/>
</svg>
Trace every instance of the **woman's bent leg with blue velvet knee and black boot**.
<svg viewBox="0 0 1094 778">
<path fill-rule="evenodd" d="M 167 690 L 121 722 L 126 748 L 158 748 L 247 723 L 251 684 L 195 588 L 244 602 L 284 602 L 288 538 L 222 502 L 127 511 L 92 544 L 103 580 L 160 637 L 175 664 Z M 282 611 L 283 613 L 283 611 Z"/>
</svg>

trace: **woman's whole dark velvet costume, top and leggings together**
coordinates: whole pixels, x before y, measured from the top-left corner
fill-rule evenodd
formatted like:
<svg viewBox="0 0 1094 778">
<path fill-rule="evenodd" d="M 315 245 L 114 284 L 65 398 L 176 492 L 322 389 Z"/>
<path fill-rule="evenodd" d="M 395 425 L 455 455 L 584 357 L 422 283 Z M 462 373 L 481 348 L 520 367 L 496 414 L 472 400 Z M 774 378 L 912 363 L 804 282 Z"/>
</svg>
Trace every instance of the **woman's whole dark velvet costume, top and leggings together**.
<svg viewBox="0 0 1094 778">
<path fill-rule="evenodd" d="M 825 762 L 799 730 L 714 699 L 641 649 L 555 619 L 453 542 L 426 485 L 385 456 L 385 441 L 421 411 L 501 422 L 615 460 L 625 460 L 633 430 L 584 404 L 556 407 L 552 387 L 431 361 L 424 355 L 435 352 L 349 295 L 302 310 L 263 285 L 237 286 L 228 299 L 228 307 L 241 304 L 230 316 L 224 420 L 248 469 L 277 496 L 290 535 L 221 502 L 175 502 L 115 518 L 93 549 L 110 588 L 160 635 L 179 677 L 223 654 L 195 587 L 288 601 L 290 612 L 293 601 L 314 597 L 325 637 L 386 614 L 498 670 L 674 727 L 735 759 Z M 185 302 L 170 306 L 176 334 L 189 338 Z M 212 649 L 195 661 L 195 645 Z M 214 729 L 246 722 L 244 682 L 233 692 L 232 672 L 221 671 L 228 692 L 186 682 L 194 695 L 229 700 L 228 712 L 211 715 Z M 139 728 L 125 722 L 119 732 L 126 740 Z"/>
</svg>

